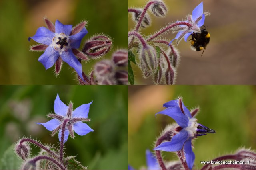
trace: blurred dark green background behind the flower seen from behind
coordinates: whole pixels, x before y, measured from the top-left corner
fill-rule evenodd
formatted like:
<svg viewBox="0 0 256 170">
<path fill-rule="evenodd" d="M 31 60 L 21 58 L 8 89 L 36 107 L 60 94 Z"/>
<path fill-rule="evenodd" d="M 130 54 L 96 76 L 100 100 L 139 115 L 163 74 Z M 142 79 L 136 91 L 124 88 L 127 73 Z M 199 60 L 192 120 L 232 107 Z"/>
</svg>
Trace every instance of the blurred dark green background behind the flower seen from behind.
<svg viewBox="0 0 256 170">
<path fill-rule="evenodd" d="M 58 145 L 58 135 L 42 125 L 50 119 L 57 96 L 73 108 L 90 105 L 87 124 L 94 130 L 85 136 L 68 137 L 66 156 L 75 156 L 88 169 L 127 169 L 128 121 L 127 86 L 0 86 L 0 158 L 4 151 L 24 136 Z M 32 146 L 32 153 L 38 148 Z"/>
</svg>

